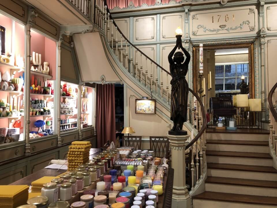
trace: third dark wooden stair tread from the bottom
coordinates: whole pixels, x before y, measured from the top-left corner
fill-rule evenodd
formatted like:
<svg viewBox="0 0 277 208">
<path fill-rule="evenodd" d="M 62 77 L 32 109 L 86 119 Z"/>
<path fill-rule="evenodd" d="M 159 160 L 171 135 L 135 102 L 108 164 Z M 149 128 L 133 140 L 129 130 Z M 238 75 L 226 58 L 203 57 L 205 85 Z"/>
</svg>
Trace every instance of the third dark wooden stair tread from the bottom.
<svg viewBox="0 0 277 208">
<path fill-rule="evenodd" d="M 252 166 L 252 165 L 237 165 L 237 164 L 207 163 L 207 168 L 277 173 L 277 170 L 271 166 Z"/>
</svg>

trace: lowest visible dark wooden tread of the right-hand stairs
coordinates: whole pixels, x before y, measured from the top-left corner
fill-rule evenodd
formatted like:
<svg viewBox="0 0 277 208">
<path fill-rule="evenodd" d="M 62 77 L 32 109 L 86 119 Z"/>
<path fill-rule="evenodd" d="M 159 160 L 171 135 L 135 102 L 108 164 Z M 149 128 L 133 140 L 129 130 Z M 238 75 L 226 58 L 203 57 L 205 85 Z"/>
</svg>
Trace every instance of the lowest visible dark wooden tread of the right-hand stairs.
<svg viewBox="0 0 277 208">
<path fill-rule="evenodd" d="M 222 192 L 203 192 L 196 196 L 192 196 L 192 198 L 203 199 L 203 200 L 235 202 L 235 203 L 246 203 L 246 204 L 277 205 L 277 197 L 272 197 L 272 196 L 228 194 L 228 193 L 222 193 Z"/>
</svg>

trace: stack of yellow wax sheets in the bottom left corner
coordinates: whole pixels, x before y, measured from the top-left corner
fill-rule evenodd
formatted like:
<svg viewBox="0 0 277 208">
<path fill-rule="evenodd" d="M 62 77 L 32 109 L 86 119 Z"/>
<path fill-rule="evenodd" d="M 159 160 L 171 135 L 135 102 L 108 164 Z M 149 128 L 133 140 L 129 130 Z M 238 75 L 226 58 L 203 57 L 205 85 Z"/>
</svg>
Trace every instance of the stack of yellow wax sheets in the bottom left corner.
<svg viewBox="0 0 277 208">
<path fill-rule="evenodd" d="M 28 190 L 28 185 L 0 185 L 0 208 L 26 204 Z"/>
</svg>

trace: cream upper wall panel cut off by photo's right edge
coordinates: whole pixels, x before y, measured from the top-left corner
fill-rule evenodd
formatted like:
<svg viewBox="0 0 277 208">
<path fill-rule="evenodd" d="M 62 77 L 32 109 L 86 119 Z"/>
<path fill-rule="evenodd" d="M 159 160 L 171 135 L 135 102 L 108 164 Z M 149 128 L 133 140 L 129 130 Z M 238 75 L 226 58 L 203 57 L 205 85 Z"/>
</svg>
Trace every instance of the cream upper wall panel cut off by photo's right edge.
<svg viewBox="0 0 277 208">
<path fill-rule="evenodd" d="M 277 31 L 277 5 L 267 5 L 266 7 L 266 27 L 267 31 Z"/>
</svg>

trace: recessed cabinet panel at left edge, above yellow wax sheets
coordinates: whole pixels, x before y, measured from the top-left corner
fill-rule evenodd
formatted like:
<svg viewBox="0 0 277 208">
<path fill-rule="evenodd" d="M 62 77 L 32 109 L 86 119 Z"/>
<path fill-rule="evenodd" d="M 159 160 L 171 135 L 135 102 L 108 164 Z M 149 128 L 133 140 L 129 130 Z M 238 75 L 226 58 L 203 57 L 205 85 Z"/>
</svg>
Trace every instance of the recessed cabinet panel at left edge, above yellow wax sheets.
<svg viewBox="0 0 277 208">
<path fill-rule="evenodd" d="M 8 185 L 24 177 L 26 177 L 26 166 L 14 170 L 11 170 L 11 167 L 6 168 L 0 171 L 0 185 Z"/>
</svg>

